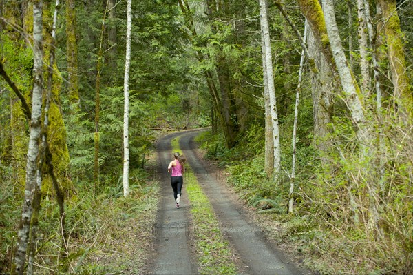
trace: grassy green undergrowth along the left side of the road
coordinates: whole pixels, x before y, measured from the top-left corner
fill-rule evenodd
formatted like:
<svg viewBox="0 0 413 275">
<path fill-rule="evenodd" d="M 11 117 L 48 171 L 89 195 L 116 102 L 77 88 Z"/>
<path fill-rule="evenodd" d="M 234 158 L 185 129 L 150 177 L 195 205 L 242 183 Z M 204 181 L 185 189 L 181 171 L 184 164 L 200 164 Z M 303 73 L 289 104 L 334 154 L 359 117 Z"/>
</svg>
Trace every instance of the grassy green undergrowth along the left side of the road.
<svg viewBox="0 0 413 275">
<path fill-rule="evenodd" d="M 93 183 L 76 183 L 76 194 L 65 200 L 67 257 L 56 253 L 59 207 L 53 196 L 43 197 L 36 274 L 140 274 L 156 222 L 159 185 L 145 170 L 133 169 L 129 176 L 128 198 L 121 176 L 114 175 L 98 194 Z M 12 192 L 0 190 L 0 274 L 9 271 L 21 209 L 19 201 L 10 199 Z"/>
</svg>

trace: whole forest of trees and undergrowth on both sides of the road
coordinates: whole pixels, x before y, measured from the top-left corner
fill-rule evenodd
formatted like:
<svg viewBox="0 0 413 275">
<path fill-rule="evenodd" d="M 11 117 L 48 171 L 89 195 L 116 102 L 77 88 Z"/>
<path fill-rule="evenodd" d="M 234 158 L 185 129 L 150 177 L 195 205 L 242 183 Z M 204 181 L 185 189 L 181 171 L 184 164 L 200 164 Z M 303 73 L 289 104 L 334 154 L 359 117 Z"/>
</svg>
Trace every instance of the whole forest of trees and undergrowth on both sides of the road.
<svg viewBox="0 0 413 275">
<path fill-rule="evenodd" d="M 0 274 L 150 273 L 156 144 L 197 129 L 302 267 L 412 274 L 412 14 L 411 0 L 0 0 Z M 198 273 L 237 274 L 209 246 Z"/>
</svg>

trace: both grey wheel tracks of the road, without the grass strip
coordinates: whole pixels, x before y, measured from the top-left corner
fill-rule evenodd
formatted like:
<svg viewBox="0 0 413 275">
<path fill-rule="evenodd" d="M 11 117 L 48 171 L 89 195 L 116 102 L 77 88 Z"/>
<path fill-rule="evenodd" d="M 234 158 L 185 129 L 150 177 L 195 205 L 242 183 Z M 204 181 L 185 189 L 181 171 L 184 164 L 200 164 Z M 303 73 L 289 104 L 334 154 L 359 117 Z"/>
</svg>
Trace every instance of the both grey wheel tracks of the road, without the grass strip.
<svg viewBox="0 0 413 275">
<path fill-rule="evenodd" d="M 193 137 L 198 131 L 170 134 L 158 143 L 158 173 L 162 179 L 162 201 L 158 212 L 156 255 L 153 258 L 153 274 L 198 274 L 196 255 L 189 239 L 189 201 L 182 194 L 180 209 L 174 208 L 174 201 L 166 174 L 171 161 L 171 139 L 182 135 L 180 148 L 187 156 L 202 190 L 207 194 L 213 210 L 220 221 L 220 230 L 239 256 L 242 274 L 306 274 L 268 242 L 262 230 L 251 223 L 235 196 L 224 185 L 220 174 L 209 167 L 196 154 Z"/>
</svg>

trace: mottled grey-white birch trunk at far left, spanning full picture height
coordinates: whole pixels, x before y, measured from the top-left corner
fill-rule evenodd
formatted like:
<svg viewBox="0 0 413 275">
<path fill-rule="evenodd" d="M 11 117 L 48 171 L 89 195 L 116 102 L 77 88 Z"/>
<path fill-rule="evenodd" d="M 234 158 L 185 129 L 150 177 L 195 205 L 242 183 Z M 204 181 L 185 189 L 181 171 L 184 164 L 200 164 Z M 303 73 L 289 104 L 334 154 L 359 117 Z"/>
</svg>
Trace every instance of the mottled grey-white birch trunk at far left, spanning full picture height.
<svg viewBox="0 0 413 275">
<path fill-rule="evenodd" d="M 36 188 L 37 160 L 39 156 L 39 139 L 41 134 L 41 105 L 43 90 L 43 2 L 33 1 L 33 94 L 32 117 L 30 121 L 30 139 L 28 159 L 26 165 L 25 196 L 21 210 L 21 220 L 17 233 L 17 246 L 14 254 L 14 269 L 12 273 L 23 275 L 26 252 L 30 235 L 30 221 L 32 218 L 32 201 Z"/>
</svg>

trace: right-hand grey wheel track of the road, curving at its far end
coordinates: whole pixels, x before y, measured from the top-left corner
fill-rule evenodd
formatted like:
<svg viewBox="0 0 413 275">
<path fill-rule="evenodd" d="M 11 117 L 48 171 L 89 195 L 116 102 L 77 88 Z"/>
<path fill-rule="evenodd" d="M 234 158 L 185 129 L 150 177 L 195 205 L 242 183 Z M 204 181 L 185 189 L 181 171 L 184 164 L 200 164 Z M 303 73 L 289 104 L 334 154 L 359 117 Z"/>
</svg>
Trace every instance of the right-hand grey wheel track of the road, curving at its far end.
<svg viewBox="0 0 413 275">
<path fill-rule="evenodd" d="M 277 247 L 266 241 L 262 231 L 233 203 L 229 190 L 220 184 L 218 174 L 209 171 L 194 150 L 193 138 L 198 132 L 183 133 L 180 148 L 187 157 L 189 165 L 197 176 L 202 190 L 207 194 L 215 214 L 220 221 L 221 230 L 240 256 L 249 274 L 299 275 L 306 272 L 290 263 Z M 244 273 L 244 272 L 243 272 Z"/>
</svg>

